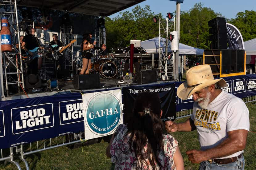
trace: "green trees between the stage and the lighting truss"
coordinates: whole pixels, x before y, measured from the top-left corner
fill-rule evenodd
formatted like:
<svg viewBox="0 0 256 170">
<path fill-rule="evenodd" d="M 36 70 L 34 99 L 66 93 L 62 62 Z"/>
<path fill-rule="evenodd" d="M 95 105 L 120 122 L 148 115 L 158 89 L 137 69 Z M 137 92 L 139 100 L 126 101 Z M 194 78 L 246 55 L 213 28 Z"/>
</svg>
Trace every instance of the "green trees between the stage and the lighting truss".
<svg viewBox="0 0 256 170">
<path fill-rule="evenodd" d="M 120 16 L 121 15 L 121 16 Z M 118 45 L 126 47 L 130 40 L 147 40 L 158 36 L 159 25 L 153 22 L 153 17 L 162 17 L 162 14 L 155 15 L 150 6 L 144 8 L 135 6 L 130 11 L 120 13 L 111 19 L 105 18 L 108 49 L 116 48 Z"/>
</svg>

